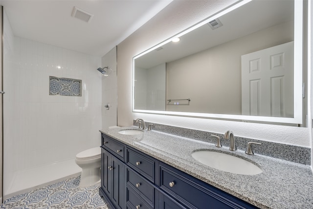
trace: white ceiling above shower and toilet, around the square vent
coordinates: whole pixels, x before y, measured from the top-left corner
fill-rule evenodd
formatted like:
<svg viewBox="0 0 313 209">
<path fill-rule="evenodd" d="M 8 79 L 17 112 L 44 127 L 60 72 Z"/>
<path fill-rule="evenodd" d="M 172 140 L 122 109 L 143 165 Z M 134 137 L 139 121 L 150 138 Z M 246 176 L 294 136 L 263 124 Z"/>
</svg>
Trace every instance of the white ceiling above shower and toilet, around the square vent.
<svg viewBox="0 0 313 209">
<path fill-rule="evenodd" d="M 1 0 L 15 36 L 102 57 L 172 0 Z M 76 6 L 89 23 L 71 16 Z"/>
</svg>

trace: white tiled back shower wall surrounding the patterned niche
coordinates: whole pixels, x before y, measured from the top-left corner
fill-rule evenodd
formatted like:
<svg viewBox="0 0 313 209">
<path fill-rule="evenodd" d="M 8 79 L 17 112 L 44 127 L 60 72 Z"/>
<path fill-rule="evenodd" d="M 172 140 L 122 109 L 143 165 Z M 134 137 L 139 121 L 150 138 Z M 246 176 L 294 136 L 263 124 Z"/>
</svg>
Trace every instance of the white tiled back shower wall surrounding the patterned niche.
<svg viewBox="0 0 313 209">
<path fill-rule="evenodd" d="M 4 35 L 4 191 L 23 169 L 100 145 L 101 59 Z M 49 95 L 49 76 L 82 80 L 82 96 Z M 40 178 L 40 174 L 39 178 Z"/>
</svg>

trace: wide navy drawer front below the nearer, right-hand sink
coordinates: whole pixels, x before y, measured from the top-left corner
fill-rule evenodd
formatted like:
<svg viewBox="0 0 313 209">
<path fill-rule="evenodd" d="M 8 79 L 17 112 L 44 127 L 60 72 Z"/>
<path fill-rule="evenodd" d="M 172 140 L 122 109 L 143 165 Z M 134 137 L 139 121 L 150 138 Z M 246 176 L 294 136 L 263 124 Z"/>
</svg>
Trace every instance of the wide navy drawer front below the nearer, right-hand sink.
<svg viewBox="0 0 313 209">
<path fill-rule="evenodd" d="M 221 191 L 217 191 L 217 188 L 211 186 L 212 188 L 208 189 L 198 181 L 175 168 L 160 166 L 160 187 L 187 208 L 207 209 L 208 206 L 212 209 L 246 208 L 225 197 Z"/>
</svg>

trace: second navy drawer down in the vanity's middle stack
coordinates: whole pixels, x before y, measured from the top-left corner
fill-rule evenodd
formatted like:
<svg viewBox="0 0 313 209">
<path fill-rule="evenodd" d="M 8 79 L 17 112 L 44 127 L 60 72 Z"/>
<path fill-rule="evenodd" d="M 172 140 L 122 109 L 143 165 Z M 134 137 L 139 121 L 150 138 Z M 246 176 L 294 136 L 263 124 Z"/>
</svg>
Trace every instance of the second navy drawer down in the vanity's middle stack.
<svg viewBox="0 0 313 209">
<path fill-rule="evenodd" d="M 154 205 L 154 187 L 131 169 L 127 169 L 127 185 L 131 185 L 134 190 L 140 193 L 142 198 L 151 205 Z"/>
</svg>

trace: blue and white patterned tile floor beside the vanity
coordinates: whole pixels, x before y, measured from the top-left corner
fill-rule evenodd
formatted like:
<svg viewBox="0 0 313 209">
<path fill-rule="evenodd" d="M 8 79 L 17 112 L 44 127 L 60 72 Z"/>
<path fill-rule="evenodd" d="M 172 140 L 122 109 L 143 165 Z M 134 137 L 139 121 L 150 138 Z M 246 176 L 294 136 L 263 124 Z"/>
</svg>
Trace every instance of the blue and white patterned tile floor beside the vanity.
<svg viewBox="0 0 313 209">
<path fill-rule="evenodd" d="M 67 179 L 4 200 L 1 209 L 109 209 L 100 185 L 80 188 L 80 177 Z"/>
</svg>

